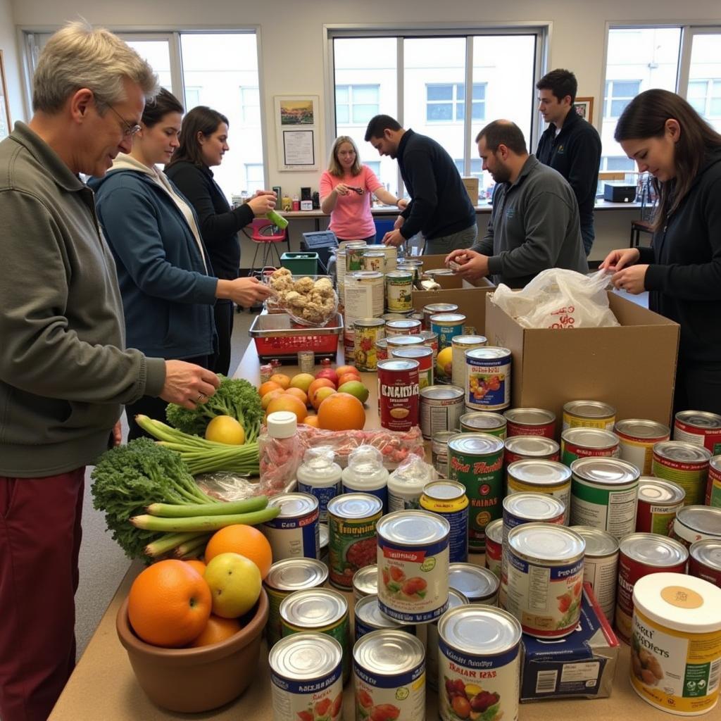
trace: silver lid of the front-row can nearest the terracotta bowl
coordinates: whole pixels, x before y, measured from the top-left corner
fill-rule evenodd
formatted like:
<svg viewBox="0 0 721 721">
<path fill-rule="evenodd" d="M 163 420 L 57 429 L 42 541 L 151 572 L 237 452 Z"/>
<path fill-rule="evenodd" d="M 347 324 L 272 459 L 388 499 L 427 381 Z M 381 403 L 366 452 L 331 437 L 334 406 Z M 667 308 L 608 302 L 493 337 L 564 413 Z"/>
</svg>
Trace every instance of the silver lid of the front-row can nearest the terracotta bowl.
<svg viewBox="0 0 721 721">
<path fill-rule="evenodd" d="M 278 676 L 297 681 L 327 676 L 342 660 L 340 643 L 322 633 L 294 633 L 281 638 L 268 655 L 270 668 Z"/>
</svg>

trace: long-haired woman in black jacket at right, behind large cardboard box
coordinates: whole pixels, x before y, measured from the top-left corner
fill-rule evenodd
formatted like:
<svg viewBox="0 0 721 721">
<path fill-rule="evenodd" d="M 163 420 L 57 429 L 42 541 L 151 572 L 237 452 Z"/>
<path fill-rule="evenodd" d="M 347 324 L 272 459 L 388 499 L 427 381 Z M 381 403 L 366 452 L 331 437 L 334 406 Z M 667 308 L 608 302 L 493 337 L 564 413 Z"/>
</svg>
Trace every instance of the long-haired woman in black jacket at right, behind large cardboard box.
<svg viewBox="0 0 721 721">
<path fill-rule="evenodd" d="M 659 200 L 651 247 L 614 250 L 601 267 L 616 288 L 650 291 L 650 309 L 681 325 L 674 413 L 721 413 L 721 135 L 675 93 L 647 90 L 615 137 Z"/>
</svg>

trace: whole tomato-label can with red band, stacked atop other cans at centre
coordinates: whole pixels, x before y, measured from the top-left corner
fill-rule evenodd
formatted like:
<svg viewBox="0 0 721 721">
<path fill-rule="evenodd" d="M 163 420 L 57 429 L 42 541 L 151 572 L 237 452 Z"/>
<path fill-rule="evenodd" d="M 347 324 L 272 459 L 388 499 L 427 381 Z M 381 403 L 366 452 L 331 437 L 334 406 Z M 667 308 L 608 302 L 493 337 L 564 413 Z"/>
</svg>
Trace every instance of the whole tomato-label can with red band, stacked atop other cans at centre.
<svg viewBox="0 0 721 721">
<path fill-rule="evenodd" d="M 448 606 L 451 524 L 425 510 L 399 510 L 378 522 L 378 603 L 392 619 L 426 623 Z"/>
</svg>

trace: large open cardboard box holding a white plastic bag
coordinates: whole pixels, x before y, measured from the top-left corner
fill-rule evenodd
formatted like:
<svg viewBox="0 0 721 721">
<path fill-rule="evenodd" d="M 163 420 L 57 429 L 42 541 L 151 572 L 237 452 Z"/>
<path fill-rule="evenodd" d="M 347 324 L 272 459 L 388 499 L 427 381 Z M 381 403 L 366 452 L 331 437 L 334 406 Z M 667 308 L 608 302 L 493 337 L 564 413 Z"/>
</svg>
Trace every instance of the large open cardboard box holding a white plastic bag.
<svg viewBox="0 0 721 721">
<path fill-rule="evenodd" d="M 552 410 L 597 400 L 616 418 L 649 418 L 668 425 L 676 377 L 679 326 L 616 293 L 609 305 L 620 327 L 523 328 L 486 298 L 489 345 L 509 348 L 512 407 Z"/>
</svg>

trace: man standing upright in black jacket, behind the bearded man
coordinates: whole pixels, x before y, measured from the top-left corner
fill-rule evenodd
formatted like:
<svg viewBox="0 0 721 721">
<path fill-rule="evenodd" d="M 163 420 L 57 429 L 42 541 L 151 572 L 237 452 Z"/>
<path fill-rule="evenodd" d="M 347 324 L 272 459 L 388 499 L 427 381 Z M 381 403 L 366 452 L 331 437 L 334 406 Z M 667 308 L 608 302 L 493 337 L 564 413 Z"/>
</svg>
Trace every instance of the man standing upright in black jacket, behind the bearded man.
<svg viewBox="0 0 721 721">
<path fill-rule="evenodd" d="M 593 206 L 596 203 L 601 138 L 596 128 L 573 108 L 578 91 L 576 76 L 553 70 L 537 83 L 539 110 L 549 123 L 539 140 L 536 158 L 550 165 L 568 181 L 578 200 L 583 248 L 588 256 L 593 239 Z"/>
</svg>

